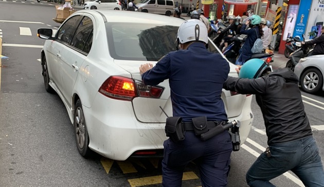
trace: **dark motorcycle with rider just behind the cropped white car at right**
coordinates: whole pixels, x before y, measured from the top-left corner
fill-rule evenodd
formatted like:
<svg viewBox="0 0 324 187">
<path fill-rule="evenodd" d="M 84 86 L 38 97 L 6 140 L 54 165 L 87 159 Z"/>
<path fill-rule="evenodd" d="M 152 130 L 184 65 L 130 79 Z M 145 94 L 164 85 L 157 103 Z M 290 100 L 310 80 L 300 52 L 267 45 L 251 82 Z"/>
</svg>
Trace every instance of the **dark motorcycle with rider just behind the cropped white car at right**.
<svg viewBox="0 0 324 187">
<path fill-rule="evenodd" d="M 304 34 L 303 34 L 304 39 Z M 305 39 L 304 39 L 305 40 Z M 313 46 L 302 45 L 299 49 L 295 50 L 289 56 L 289 61 L 286 63 L 286 67 L 290 68 L 292 71 L 295 70 L 296 64 L 301 58 L 309 57 L 313 53 Z"/>
</svg>

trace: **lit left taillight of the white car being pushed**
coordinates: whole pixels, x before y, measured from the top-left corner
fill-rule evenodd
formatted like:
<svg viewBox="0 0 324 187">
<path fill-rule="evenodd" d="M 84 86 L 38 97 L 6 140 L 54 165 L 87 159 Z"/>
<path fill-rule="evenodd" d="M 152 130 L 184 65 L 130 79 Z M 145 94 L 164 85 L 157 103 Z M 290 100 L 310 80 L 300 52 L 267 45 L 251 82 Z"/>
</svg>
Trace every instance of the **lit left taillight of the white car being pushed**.
<svg viewBox="0 0 324 187">
<path fill-rule="evenodd" d="M 99 92 L 109 98 L 132 101 L 135 97 L 159 98 L 164 88 L 148 86 L 133 79 L 111 76 L 99 88 Z"/>
</svg>

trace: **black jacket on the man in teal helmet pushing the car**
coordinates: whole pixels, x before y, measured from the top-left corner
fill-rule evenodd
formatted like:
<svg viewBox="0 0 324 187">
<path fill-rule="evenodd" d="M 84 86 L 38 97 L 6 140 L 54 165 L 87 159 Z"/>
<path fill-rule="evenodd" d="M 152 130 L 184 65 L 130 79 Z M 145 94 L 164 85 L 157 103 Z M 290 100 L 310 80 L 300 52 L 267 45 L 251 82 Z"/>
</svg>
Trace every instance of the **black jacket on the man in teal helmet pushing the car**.
<svg viewBox="0 0 324 187">
<path fill-rule="evenodd" d="M 259 79 L 228 77 L 224 88 L 240 94 L 256 95 L 268 145 L 312 135 L 298 87 L 298 77 L 289 68 L 275 70 Z"/>
</svg>

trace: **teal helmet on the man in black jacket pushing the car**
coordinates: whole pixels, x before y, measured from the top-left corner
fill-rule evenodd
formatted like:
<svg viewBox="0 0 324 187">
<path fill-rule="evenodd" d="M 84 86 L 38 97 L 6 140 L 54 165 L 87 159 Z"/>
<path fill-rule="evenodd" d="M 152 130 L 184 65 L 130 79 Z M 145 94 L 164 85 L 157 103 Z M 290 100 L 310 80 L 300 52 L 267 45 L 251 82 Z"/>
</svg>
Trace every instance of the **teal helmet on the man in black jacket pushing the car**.
<svg viewBox="0 0 324 187">
<path fill-rule="evenodd" d="M 264 70 L 271 71 L 271 68 L 261 59 L 251 59 L 241 67 L 239 78 L 257 79 Z"/>
</svg>

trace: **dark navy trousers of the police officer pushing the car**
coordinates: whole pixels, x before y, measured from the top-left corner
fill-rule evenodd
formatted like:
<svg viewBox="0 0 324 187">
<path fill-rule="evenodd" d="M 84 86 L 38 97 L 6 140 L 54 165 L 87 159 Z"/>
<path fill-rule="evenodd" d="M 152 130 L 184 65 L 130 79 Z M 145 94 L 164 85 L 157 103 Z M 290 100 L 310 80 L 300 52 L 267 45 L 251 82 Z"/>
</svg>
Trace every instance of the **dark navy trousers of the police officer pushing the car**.
<svg viewBox="0 0 324 187">
<path fill-rule="evenodd" d="M 185 140 L 164 142 L 162 161 L 162 185 L 182 185 L 186 165 L 194 161 L 200 170 L 203 187 L 226 186 L 229 172 L 232 142 L 227 130 L 206 141 L 195 136 L 193 131 L 185 132 Z"/>
</svg>

